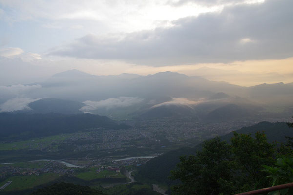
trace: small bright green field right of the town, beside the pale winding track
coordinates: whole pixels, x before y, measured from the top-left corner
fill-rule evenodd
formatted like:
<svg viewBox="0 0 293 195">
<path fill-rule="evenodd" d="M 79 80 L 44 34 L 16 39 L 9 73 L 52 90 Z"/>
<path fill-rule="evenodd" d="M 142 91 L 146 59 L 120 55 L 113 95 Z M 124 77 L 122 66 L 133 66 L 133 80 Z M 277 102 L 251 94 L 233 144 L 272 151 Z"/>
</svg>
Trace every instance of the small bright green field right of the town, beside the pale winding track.
<svg viewBox="0 0 293 195">
<path fill-rule="evenodd" d="M 103 170 L 101 172 L 96 172 L 97 168 L 91 167 L 88 168 L 87 171 L 81 172 L 78 175 L 76 175 L 77 178 L 89 181 L 93 179 L 101 179 L 101 178 L 125 178 L 125 176 L 122 173 L 116 173 L 114 171 L 108 171 Z"/>
</svg>

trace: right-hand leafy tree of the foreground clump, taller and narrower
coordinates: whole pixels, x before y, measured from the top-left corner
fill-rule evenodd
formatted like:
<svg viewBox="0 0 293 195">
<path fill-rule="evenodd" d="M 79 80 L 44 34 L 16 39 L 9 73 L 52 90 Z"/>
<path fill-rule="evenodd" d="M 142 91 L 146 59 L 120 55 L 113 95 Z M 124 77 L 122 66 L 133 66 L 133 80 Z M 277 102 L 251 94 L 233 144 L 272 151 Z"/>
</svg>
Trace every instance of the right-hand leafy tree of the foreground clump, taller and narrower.
<svg viewBox="0 0 293 195">
<path fill-rule="evenodd" d="M 237 170 L 241 172 L 240 183 L 248 184 L 252 189 L 266 187 L 268 181 L 263 179 L 265 174 L 260 172 L 262 165 L 272 165 L 275 156 L 275 144 L 267 142 L 264 133 L 238 134 L 234 132 L 231 147 Z"/>
</svg>

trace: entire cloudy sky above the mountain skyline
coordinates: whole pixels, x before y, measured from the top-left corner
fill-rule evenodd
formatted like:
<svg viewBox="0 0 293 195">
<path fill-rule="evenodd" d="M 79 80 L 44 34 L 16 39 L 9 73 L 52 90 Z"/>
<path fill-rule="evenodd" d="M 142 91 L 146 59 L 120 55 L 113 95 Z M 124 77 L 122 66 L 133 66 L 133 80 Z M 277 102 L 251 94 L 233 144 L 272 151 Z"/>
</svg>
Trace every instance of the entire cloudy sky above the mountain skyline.
<svg viewBox="0 0 293 195">
<path fill-rule="evenodd" d="M 0 85 L 77 69 L 293 82 L 292 0 L 0 0 Z"/>
</svg>

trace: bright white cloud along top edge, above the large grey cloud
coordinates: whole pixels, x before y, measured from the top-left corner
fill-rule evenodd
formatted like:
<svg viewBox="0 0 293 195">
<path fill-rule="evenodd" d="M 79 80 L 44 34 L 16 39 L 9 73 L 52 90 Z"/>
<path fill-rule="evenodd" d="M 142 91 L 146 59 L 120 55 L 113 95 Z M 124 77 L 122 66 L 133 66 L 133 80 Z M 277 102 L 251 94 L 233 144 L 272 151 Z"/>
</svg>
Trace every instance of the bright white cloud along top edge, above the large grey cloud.
<svg viewBox="0 0 293 195">
<path fill-rule="evenodd" d="M 62 28 L 66 31 L 70 30 L 70 26 L 82 24 L 87 32 L 99 33 L 153 29 L 159 21 L 207 11 L 192 5 L 169 6 L 167 1 L 86 0 L 80 3 L 80 0 L 0 0 L 0 7 L 5 9 L 2 19 L 8 23 L 31 20 L 39 24 L 44 22 L 42 27 L 45 28 Z"/>
</svg>

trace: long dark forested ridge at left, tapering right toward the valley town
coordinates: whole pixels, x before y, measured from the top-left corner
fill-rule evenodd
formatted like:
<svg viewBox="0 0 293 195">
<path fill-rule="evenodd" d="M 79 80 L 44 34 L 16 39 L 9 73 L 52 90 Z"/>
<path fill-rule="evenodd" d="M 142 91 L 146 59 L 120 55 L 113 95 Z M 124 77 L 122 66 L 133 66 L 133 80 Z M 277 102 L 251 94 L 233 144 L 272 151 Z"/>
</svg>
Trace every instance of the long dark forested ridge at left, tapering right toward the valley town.
<svg viewBox="0 0 293 195">
<path fill-rule="evenodd" d="M 126 129 L 129 126 L 92 114 L 0 113 L 0 140 L 24 140 L 93 128 Z"/>
</svg>

